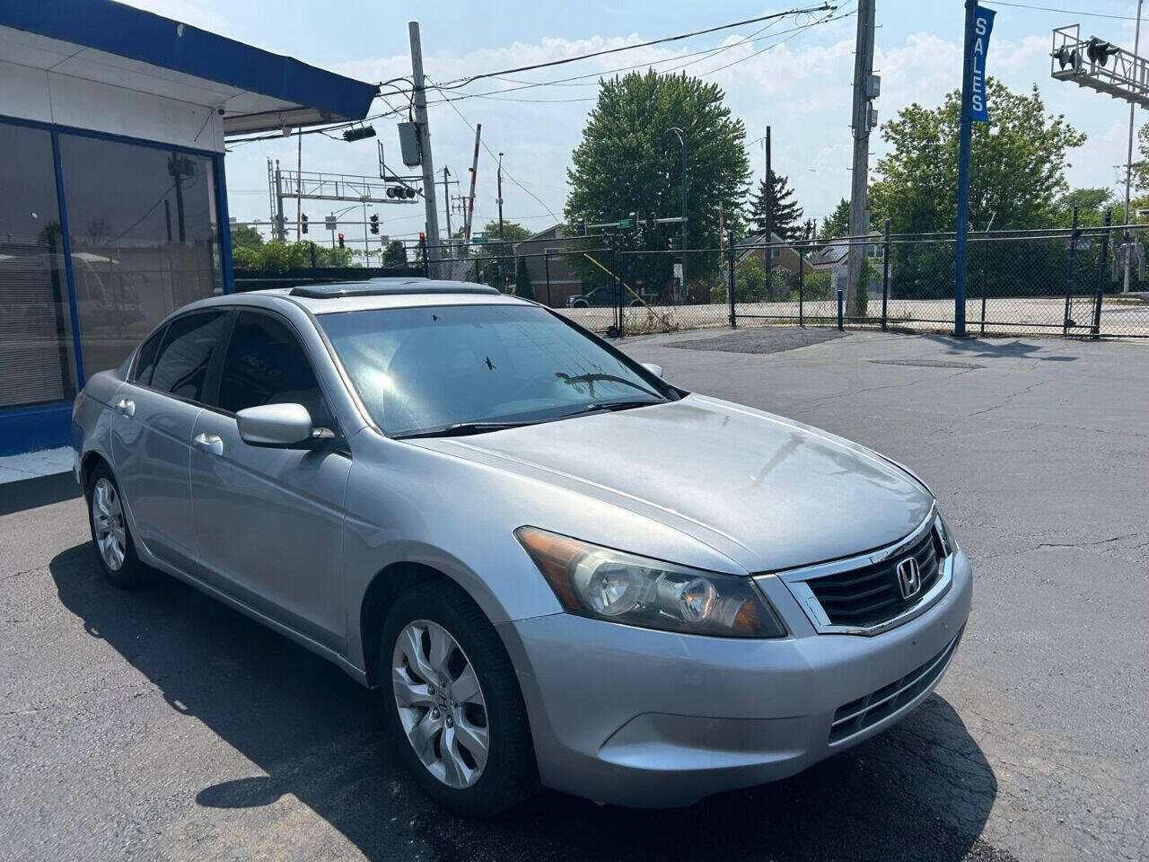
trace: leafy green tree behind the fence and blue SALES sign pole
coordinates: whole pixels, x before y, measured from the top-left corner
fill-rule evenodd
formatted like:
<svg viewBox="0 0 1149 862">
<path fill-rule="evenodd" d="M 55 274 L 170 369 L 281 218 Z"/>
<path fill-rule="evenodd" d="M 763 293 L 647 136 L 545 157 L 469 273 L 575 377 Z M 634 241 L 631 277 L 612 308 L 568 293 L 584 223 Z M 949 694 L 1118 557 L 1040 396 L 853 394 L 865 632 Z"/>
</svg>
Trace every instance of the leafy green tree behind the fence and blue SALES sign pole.
<svg viewBox="0 0 1149 862">
<path fill-rule="evenodd" d="M 1069 151 L 1085 143 L 1062 115 L 1046 110 L 1036 85 L 1016 93 L 987 79 L 989 123 L 974 123 L 970 156 L 969 224 L 984 231 L 1056 225 L 1054 202 L 1069 191 Z M 894 233 L 949 232 L 957 213 L 957 138 L 961 95 L 948 93 L 936 108 L 903 108 L 882 125 L 889 152 L 878 160 L 870 187 L 876 224 L 890 221 Z M 1065 245 L 970 244 L 970 290 L 993 278 L 998 295 L 1048 291 L 1064 280 Z M 977 255 L 974 259 L 973 255 Z M 948 243 L 900 243 L 890 255 L 895 298 L 948 299 L 954 291 L 954 248 Z"/>
</svg>

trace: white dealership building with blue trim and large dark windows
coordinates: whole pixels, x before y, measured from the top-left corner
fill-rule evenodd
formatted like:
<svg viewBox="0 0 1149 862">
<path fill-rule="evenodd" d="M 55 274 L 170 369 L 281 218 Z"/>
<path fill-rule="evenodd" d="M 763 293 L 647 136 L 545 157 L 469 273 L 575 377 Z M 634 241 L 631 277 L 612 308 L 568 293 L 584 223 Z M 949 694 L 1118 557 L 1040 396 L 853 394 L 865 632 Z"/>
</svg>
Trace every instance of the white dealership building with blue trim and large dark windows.
<svg viewBox="0 0 1149 862">
<path fill-rule="evenodd" d="M 0 6 L 0 455 L 232 290 L 225 136 L 362 120 L 376 86 L 108 0 Z"/>
</svg>

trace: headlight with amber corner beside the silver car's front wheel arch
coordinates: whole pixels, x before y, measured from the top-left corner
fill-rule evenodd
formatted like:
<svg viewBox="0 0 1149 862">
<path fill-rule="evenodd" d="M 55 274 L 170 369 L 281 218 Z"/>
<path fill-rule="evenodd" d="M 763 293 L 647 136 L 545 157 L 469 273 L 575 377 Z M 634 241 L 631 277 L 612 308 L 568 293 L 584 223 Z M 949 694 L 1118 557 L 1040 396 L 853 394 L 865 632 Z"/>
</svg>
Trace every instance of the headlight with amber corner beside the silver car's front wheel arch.
<svg viewBox="0 0 1149 862">
<path fill-rule="evenodd" d="M 691 634 L 786 634 L 750 578 L 673 565 L 533 526 L 520 526 L 515 536 L 571 614 Z"/>
</svg>

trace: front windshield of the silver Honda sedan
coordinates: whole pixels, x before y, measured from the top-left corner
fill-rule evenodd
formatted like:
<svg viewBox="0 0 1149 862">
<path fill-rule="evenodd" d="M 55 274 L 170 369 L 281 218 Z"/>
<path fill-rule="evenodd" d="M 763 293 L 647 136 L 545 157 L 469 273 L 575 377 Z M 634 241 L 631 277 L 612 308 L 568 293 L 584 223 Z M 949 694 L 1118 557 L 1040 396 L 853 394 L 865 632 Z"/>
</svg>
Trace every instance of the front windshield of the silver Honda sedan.
<svg viewBox="0 0 1149 862">
<path fill-rule="evenodd" d="M 674 398 L 634 362 L 535 306 L 387 308 L 318 320 L 391 437 L 487 431 Z"/>
</svg>

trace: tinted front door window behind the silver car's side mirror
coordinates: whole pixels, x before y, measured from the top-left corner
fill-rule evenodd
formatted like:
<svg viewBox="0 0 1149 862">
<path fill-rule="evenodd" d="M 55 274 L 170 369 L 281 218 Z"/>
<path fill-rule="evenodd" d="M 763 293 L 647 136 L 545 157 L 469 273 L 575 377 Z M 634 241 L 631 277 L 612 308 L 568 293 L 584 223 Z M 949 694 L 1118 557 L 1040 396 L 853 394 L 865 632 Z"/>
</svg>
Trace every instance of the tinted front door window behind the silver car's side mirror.
<svg viewBox="0 0 1149 862">
<path fill-rule="evenodd" d="M 273 317 L 244 311 L 224 359 L 219 407 L 239 413 L 286 403 L 303 405 L 316 425 L 331 424 L 311 363 L 294 332 Z"/>
</svg>

